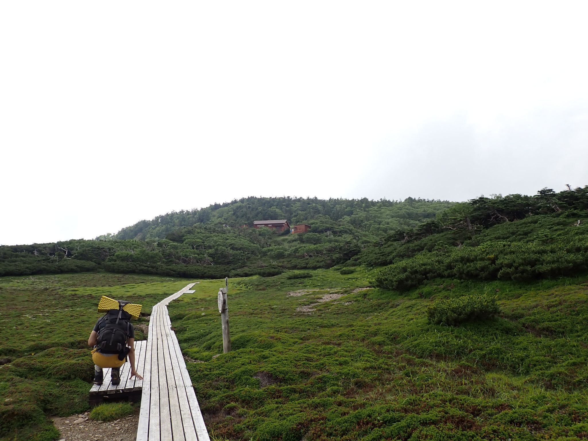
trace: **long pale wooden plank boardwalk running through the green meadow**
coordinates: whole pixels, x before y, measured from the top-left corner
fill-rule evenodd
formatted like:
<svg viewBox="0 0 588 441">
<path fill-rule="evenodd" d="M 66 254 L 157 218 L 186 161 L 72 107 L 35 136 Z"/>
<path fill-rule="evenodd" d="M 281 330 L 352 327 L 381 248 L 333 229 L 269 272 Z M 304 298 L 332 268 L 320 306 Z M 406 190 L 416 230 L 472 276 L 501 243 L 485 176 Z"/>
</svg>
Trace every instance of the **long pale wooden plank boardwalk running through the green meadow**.
<svg viewBox="0 0 588 441">
<path fill-rule="evenodd" d="M 143 375 L 137 441 L 210 441 L 167 308 L 194 285 L 151 310 L 145 355 L 137 369 Z"/>
</svg>

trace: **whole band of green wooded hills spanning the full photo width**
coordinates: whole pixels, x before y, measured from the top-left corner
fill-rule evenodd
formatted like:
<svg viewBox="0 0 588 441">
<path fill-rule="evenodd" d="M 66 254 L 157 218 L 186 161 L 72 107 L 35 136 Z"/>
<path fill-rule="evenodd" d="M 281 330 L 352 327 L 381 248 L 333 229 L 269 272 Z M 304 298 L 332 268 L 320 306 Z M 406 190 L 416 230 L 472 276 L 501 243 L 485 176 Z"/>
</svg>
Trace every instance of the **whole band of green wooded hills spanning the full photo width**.
<svg viewBox="0 0 588 441">
<path fill-rule="evenodd" d="M 308 223 L 289 234 L 254 220 Z M 588 186 L 469 202 L 245 198 L 143 220 L 96 240 L 0 247 L 0 275 L 105 269 L 193 278 L 378 268 L 380 288 L 588 271 Z"/>
</svg>

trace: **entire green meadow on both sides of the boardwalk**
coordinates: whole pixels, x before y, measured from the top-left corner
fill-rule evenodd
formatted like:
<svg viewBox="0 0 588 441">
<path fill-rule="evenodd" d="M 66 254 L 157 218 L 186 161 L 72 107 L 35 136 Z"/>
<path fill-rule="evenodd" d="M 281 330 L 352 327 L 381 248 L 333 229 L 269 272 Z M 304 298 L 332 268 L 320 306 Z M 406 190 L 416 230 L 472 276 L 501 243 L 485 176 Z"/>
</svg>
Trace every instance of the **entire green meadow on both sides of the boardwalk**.
<svg viewBox="0 0 588 441">
<path fill-rule="evenodd" d="M 588 437 L 588 277 L 436 279 L 399 293 L 370 288 L 372 270 L 351 270 L 229 279 L 228 354 L 216 305 L 224 280 L 201 280 L 169 305 L 209 432 L 283 441 Z M 101 295 L 149 313 L 195 281 L 106 272 L 0 278 L 0 356 L 8 359 L 0 439 L 56 440 L 47 416 L 89 410 L 86 340 Z M 495 296 L 500 314 L 455 327 L 427 322 L 436 300 L 472 293 Z"/>
</svg>

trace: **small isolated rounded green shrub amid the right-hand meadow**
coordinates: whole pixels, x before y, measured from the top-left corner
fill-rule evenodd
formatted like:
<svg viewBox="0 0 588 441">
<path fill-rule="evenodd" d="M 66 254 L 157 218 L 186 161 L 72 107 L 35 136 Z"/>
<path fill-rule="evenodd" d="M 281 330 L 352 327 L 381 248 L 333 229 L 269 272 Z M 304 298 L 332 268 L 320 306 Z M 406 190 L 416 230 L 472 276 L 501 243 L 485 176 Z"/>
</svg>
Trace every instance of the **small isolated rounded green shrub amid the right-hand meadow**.
<svg viewBox="0 0 588 441">
<path fill-rule="evenodd" d="M 487 320 L 500 312 L 496 299 L 483 295 L 437 300 L 427 308 L 429 322 L 455 326 L 473 320 Z"/>
</svg>

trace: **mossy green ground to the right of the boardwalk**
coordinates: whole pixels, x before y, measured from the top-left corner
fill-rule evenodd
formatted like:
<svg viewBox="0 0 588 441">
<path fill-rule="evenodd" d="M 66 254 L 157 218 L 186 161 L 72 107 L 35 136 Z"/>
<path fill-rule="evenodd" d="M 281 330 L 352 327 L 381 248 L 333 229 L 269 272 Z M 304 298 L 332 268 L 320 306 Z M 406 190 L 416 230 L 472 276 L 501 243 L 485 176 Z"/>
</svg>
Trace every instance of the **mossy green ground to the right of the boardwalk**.
<svg viewBox="0 0 588 441">
<path fill-rule="evenodd" d="M 205 280 L 169 306 L 207 427 L 217 436 L 588 437 L 588 278 L 435 280 L 399 294 L 357 290 L 370 283 L 359 268 L 312 273 L 230 280 L 228 354 L 216 356 L 223 280 Z M 502 313 L 457 327 L 427 323 L 435 299 L 466 293 L 497 296 Z M 333 299 L 319 302 L 324 295 Z"/>
</svg>

